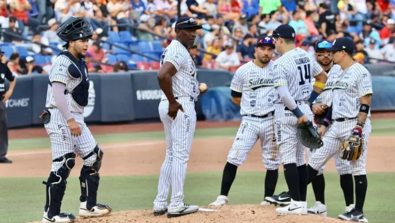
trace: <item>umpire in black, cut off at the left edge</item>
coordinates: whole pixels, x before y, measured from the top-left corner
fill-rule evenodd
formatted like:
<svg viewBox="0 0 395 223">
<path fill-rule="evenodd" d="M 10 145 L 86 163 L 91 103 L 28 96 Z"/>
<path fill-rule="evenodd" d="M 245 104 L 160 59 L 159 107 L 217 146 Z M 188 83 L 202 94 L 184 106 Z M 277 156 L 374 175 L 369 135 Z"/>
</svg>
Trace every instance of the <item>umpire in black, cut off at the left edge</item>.
<svg viewBox="0 0 395 223">
<path fill-rule="evenodd" d="M 0 58 L 3 57 L 4 52 L 0 47 Z M 5 79 L 10 82 L 10 87 L 6 91 Z M 12 75 L 8 66 L 0 61 L 0 163 L 12 163 L 6 158 L 8 150 L 8 129 L 6 117 L 6 102 L 12 95 L 15 87 L 15 77 Z"/>
</svg>

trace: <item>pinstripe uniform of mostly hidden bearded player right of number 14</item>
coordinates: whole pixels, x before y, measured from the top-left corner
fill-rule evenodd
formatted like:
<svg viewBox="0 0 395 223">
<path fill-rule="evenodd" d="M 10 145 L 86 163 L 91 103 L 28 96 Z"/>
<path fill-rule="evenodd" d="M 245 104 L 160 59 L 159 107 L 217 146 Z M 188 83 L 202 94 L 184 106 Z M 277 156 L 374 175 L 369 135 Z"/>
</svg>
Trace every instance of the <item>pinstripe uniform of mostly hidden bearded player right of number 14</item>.
<svg viewBox="0 0 395 223">
<path fill-rule="evenodd" d="M 322 90 L 321 94 L 315 99 L 313 104 L 326 104 L 328 106 L 331 106 L 332 104 L 332 88 L 333 84 L 336 81 L 337 75 L 342 72 L 342 67 L 339 65 L 335 64 L 332 66 L 332 68 L 329 70 L 327 73 L 328 75 L 328 80 L 325 85 L 324 90 Z M 314 85 L 315 78 L 312 78 L 312 86 Z M 316 126 L 316 124 L 313 122 L 313 124 Z M 331 125 L 332 126 L 332 125 Z M 329 126 L 329 128 L 331 127 Z M 308 157 L 310 160 L 310 157 L 313 155 L 314 152 L 317 150 L 308 150 Z M 349 168 L 350 162 L 344 159 L 340 159 L 338 156 L 335 156 L 335 165 L 337 169 L 337 173 L 339 175 L 344 175 L 344 174 L 351 174 L 351 169 Z M 321 169 L 318 171 L 318 175 L 321 175 L 324 173 L 325 165 L 321 167 Z"/>
</svg>

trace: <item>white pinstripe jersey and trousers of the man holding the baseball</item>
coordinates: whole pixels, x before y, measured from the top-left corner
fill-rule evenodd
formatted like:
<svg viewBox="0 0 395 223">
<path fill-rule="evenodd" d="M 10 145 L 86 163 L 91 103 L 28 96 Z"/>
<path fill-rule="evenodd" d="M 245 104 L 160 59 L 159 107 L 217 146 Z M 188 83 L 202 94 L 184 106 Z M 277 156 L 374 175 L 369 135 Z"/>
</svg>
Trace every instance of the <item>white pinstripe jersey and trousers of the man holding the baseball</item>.
<svg viewBox="0 0 395 223">
<path fill-rule="evenodd" d="M 159 103 L 159 116 L 166 135 L 166 158 L 160 169 L 158 195 L 154 207 L 167 208 L 167 198 L 171 184 L 171 202 L 169 209 L 184 205 L 184 181 L 187 173 L 187 161 L 191 152 L 193 134 L 196 127 L 195 104 L 199 95 L 199 83 L 196 80 L 196 67 L 188 50 L 177 40 L 173 40 L 160 59 L 160 66 L 172 63 L 177 73 L 172 77 L 173 94 L 184 108 L 178 111 L 173 120 L 167 115 L 169 102 L 162 92 Z"/>
</svg>

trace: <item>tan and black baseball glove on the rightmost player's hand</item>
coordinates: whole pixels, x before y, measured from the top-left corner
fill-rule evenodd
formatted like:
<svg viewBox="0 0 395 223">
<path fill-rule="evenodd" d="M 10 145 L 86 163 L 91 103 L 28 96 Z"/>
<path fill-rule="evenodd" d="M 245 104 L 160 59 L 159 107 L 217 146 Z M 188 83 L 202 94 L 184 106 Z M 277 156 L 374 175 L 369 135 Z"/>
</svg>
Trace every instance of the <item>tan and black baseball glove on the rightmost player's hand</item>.
<svg viewBox="0 0 395 223">
<path fill-rule="evenodd" d="M 339 148 L 340 158 L 355 161 L 364 152 L 364 138 L 357 134 L 351 134 Z"/>
</svg>

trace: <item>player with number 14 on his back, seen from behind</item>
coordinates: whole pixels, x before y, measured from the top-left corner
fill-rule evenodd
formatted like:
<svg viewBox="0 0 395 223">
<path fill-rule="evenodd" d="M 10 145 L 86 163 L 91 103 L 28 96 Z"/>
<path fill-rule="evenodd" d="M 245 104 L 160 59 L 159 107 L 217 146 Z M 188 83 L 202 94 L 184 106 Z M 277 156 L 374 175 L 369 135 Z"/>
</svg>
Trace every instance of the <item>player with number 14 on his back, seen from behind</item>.
<svg viewBox="0 0 395 223">
<path fill-rule="evenodd" d="M 327 74 L 315 59 L 295 46 L 295 30 L 281 25 L 273 32 L 276 49 L 282 56 L 274 62 L 278 98 L 275 133 L 291 202 L 277 208 L 282 214 L 307 214 L 307 166 L 305 147 L 297 138 L 297 125 L 313 120 L 310 105 L 325 88 Z M 315 78 L 312 88 L 311 78 Z"/>
</svg>

